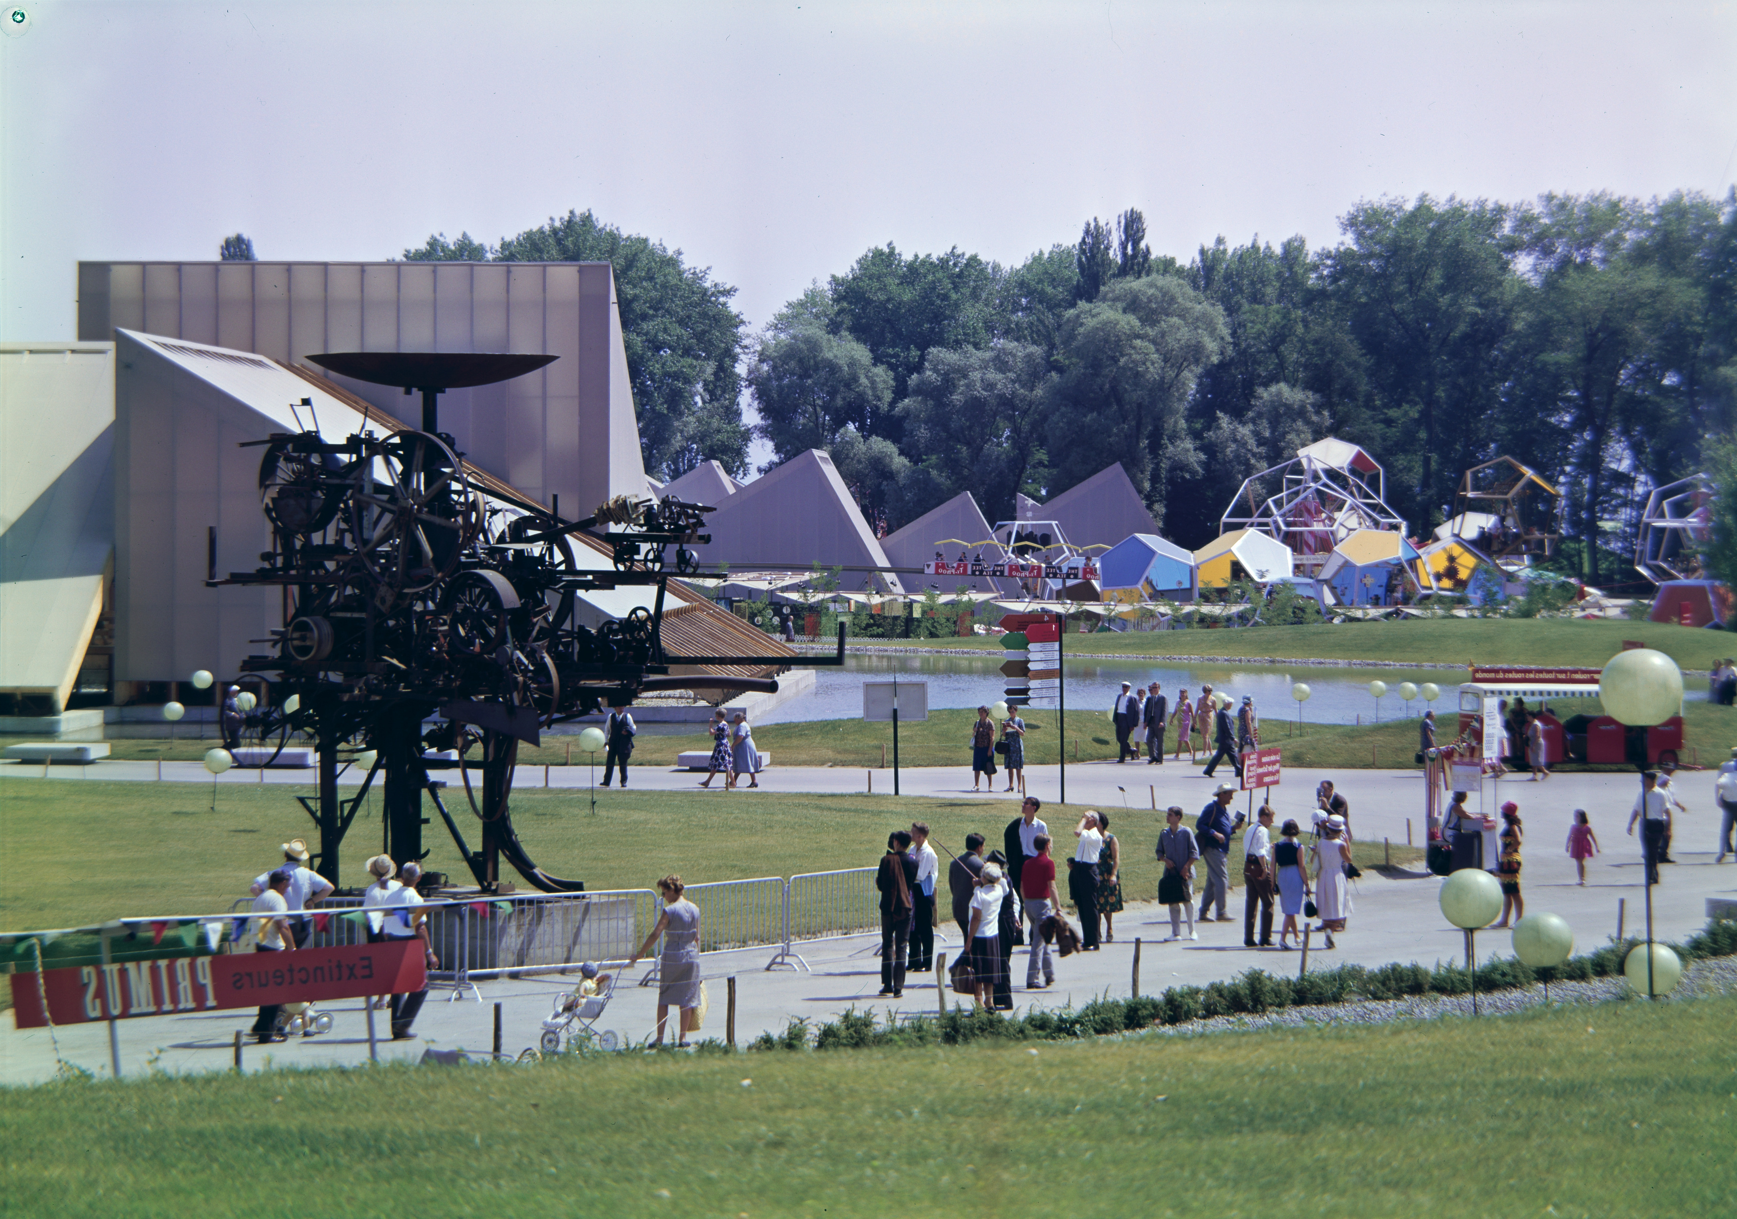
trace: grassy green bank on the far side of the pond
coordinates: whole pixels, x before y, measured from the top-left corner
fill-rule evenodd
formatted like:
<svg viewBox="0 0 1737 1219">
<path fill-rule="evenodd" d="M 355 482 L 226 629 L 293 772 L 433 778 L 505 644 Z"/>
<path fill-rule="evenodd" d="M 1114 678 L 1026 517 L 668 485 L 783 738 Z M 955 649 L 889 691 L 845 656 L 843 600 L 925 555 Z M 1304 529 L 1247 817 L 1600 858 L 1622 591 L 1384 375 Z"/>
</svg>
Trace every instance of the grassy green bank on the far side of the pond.
<svg viewBox="0 0 1737 1219">
<path fill-rule="evenodd" d="M 1640 639 L 1685 670 L 1706 670 L 1720 656 L 1737 655 L 1737 639 L 1723 630 L 1697 630 L 1655 622 L 1596 618 L 1400 618 L 1308 627 L 1235 627 L 1190 630 L 1117 630 L 1070 634 L 1077 655 L 1278 656 L 1298 660 L 1409 660 L 1430 665 L 1584 665 L 1602 669 Z M 968 639 L 900 639 L 898 646 L 994 648 L 990 636 Z"/>
</svg>

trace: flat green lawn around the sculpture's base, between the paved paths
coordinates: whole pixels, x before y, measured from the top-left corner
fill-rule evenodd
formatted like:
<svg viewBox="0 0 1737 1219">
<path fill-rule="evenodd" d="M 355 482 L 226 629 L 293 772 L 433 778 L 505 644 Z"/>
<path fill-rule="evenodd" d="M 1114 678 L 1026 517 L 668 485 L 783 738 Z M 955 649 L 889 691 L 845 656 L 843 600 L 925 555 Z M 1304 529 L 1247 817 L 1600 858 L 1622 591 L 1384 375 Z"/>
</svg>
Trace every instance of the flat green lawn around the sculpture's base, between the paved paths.
<svg viewBox="0 0 1737 1219">
<path fill-rule="evenodd" d="M 9 780 L 0 785 L 0 929 L 31 931 L 120 915 L 215 913 L 276 865 L 280 844 L 309 837 L 313 823 L 294 795 L 313 788 L 221 787 L 210 811 L 205 783 L 109 783 Z M 450 788 L 448 788 L 450 792 Z M 478 821 L 464 794 L 448 809 L 471 846 Z M 427 866 L 469 880 L 452 835 L 433 806 L 424 830 Z M 1080 809 L 1044 807 L 1053 834 L 1072 842 Z M 790 795 L 778 792 L 518 792 L 512 821 L 538 865 L 592 889 L 643 889 L 679 872 L 690 884 L 874 866 L 891 830 L 928 821 L 940 842 L 964 849 L 971 830 L 1001 846 L 1016 816 L 1011 804 L 891 795 Z M 1155 899 L 1152 854 L 1162 814 L 1108 809 L 1127 842 L 1124 896 Z M 1190 809 L 1195 813 L 1195 809 Z M 1190 818 L 1192 823 L 1192 818 Z M 363 886 L 363 863 L 379 849 L 379 802 L 346 839 L 342 879 Z M 1381 861 L 1381 844 L 1358 844 L 1362 866 Z M 1395 861 L 1421 858 L 1395 847 Z M 945 860 L 945 856 L 943 856 Z M 1235 872 L 1235 870 L 1233 870 Z"/>
</svg>

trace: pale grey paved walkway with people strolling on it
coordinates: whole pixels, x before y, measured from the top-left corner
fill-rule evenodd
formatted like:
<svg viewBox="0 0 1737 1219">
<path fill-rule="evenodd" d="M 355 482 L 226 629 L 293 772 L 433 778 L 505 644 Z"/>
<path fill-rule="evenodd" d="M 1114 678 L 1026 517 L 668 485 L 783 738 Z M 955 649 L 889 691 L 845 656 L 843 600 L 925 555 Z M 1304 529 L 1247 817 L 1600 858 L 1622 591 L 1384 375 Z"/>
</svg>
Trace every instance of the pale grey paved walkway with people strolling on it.
<svg viewBox="0 0 1737 1219">
<path fill-rule="evenodd" d="M 89 778 L 132 778 L 155 780 L 151 762 L 104 762 L 90 768 L 52 768 L 49 781 L 80 781 L 78 771 L 85 769 Z M 578 768 L 573 768 L 578 769 Z M 0 778 L 10 781 L 40 781 L 40 766 L 3 766 Z M 307 773 L 267 773 L 266 781 L 306 783 Z M 551 773 L 551 783 L 566 778 L 561 768 Z M 875 790 L 891 788 L 891 773 L 875 771 Z M 1280 816 L 1303 818 L 1315 783 L 1329 778 L 1325 771 L 1285 771 L 1284 785 L 1273 790 L 1273 802 Z M 1341 790 L 1351 801 L 1353 828 L 1364 840 L 1390 837 L 1405 842 L 1407 820 L 1412 834 L 1421 840 L 1423 825 L 1423 776 L 1417 771 L 1346 771 L 1331 774 L 1339 781 Z M 163 780 L 210 781 L 196 762 L 167 762 Z M 856 794 L 867 787 L 867 776 L 860 769 L 829 768 L 794 768 L 775 769 L 763 776 L 763 787 L 782 792 L 815 794 Z M 224 783 L 259 781 L 255 773 L 226 774 Z M 521 785 L 540 787 L 540 768 L 519 773 Z M 643 790 L 693 790 L 697 776 L 688 773 L 637 768 L 634 787 Z M 1006 806 L 997 809 L 988 830 L 1002 825 L 1002 818 L 1011 814 L 1013 797 L 1004 794 L 971 794 L 969 774 L 954 768 L 908 769 L 902 773 L 902 790 L 907 795 L 964 797 Z M 1152 790 L 1148 792 L 1148 785 Z M 1054 768 L 1032 768 L 1028 787 L 1046 801 L 1056 794 L 1058 776 Z M 1640 886 L 1640 847 L 1636 839 L 1626 837 L 1622 828 L 1628 821 L 1629 807 L 1635 801 L 1636 783 L 1629 774 L 1558 774 L 1544 783 L 1525 780 L 1503 781 L 1499 797 L 1492 797 L 1485 787 L 1487 807 L 1494 807 L 1501 799 L 1515 799 L 1520 804 L 1527 823 L 1527 868 L 1525 894 L 1527 908 L 1532 912 L 1549 910 L 1563 915 L 1575 929 L 1581 950 L 1605 943 L 1617 932 L 1617 903 L 1626 899 L 1626 931 L 1635 934 L 1643 927 L 1643 889 Z M 1737 898 L 1737 865 L 1714 865 L 1714 835 L 1718 814 L 1713 801 L 1713 774 L 1707 771 L 1685 773 L 1676 787 L 1688 804 L 1688 813 L 1680 818 L 1674 866 L 1666 866 L 1662 884 L 1654 889 L 1655 932 L 1666 939 L 1680 939 L 1706 922 L 1709 898 Z M 1212 781 L 1200 776 L 1199 768 L 1167 764 L 1164 768 L 1113 762 L 1094 762 L 1068 766 L 1070 806 L 1098 804 L 1105 809 L 1122 806 L 1124 792 L 1129 806 L 1148 807 L 1155 799 L 1159 806 L 1181 804 L 1193 813 L 1209 799 Z M 750 792 L 703 792 L 697 799 L 742 801 L 752 802 Z M 1242 802 L 1242 801 L 1238 801 Z M 1567 837 L 1570 813 L 1586 807 L 1593 816 L 1600 842 L 1607 854 L 1598 856 L 1588 866 L 1588 884 L 1579 887 L 1574 882 L 1574 865 L 1563 854 L 1562 844 Z M 1049 818 L 1054 828 L 1058 818 Z M 988 832 L 985 830 L 985 832 Z M 1065 832 L 1065 830 L 1063 830 Z M 1129 842 L 1126 849 L 1150 849 L 1146 842 Z M 1233 868 L 1233 875 L 1237 868 Z M 1337 936 L 1336 952 L 1322 952 L 1317 945 L 1310 955 L 1310 969 L 1329 967 L 1339 962 L 1360 962 L 1379 965 L 1391 960 L 1417 960 L 1431 964 L 1435 960 L 1457 959 L 1463 953 L 1463 938 L 1447 927 L 1436 906 L 1438 882 L 1428 875 L 1384 877 L 1376 872 L 1365 873 L 1357 882 L 1355 908 L 1350 929 Z M 1240 889 L 1232 896 L 1240 903 Z M 1133 983 L 1134 938 L 1143 939 L 1139 985 L 1143 992 L 1162 992 L 1178 983 L 1204 985 L 1212 979 L 1233 978 L 1235 974 L 1261 967 L 1270 971 L 1296 971 L 1299 965 L 1294 952 L 1263 952 L 1242 946 L 1242 910 L 1233 908 L 1235 920 L 1225 924 L 1204 924 L 1199 941 L 1155 943 L 1169 934 L 1169 919 L 1159 906 L 1131 905 L 1115 919 L 1117 939 L 1105 945 L 1103 952 L 1070 957 L 1058 969 L 1054 990 L 1028 993 L 1023 986 L 1014 988 L 1014 1000 L 1020 1007 L 1032 1004 L 1061 1005 L 1080 1004 L 1096 995 L 1127 995 Z M 723 1037 L 724 1028 L 724 978 L 735 974 L 736 990 L 736 1038 L 750 1040 L 761 1030 L 782 1030 L 792 1016 L 806 1016 L 813 1021 L 832 1019 L 848 1007 L 875 1007 L 886 1011 L 886 1000 L 877 998 L 881 988 L 879 960 L 874 955 L 877 936 L 856 936 L 849 939 L 825 941 L 799 946 L 811 972 L 766 972 L 764 965 L 771 959 L 771 948 L 743 950 L 735 953 L 716 953 L 705 959 L 710 983 L 710 1018 L 702 1037 Z M 940 943 L 938 952 L 947 952 L 948 959 L 957 955 L 957 934 L 954 939 Z M 1506 932 L 1487 931 L 1478 936 L 1478 953 L 1511 952 Z M 1025 950 L 1014 952 L 1014 976 L 1023 981 Z M 644 965 L 641 965 L 641 972 Z M 519 1051 L 537 1044 L 538 1021 L 547 1014 L 549 1004 L 565 985 L 558 978 L 502 979 L 485 983 L 481 995 L 485 1002 L 464 997 L 448 1002 L 448 992 L 434 992 L 422 1018 L 417 1021 L 419 1038 L 412 1042 L 382 1044 L 387 1058 L 420 1056 L 427 1047 L 436 1049 L 483 1049 L 492 1037 L 493 1012 L 490 1004 L 500 1002 L 504 1012 L 505 1049 Z M 948 1004 L 955 997 L 948 995 Z M 903 1011 L 935 1011 L 938 1005 L 935 979 L 915 981 L 907 986 Z M 646 1037 L 657 1019 L 657 988 L 624 986 L 610 1004 L 603 1026 L 617 1028 L 629 1040 Z M 276 1047 L 248 1047 L 245 1061 L 248 1070 L 271 1064 L 316 1064 L 316 1063 L 360 1063 L 367 1059 L 367 1025 L 363 1011 L 356 1002 L 328 1005 L 327 1011 L 337 1018 L 337 1026 L 323 1037 L 299 1038 L 294 1044 Z M 165 1016 L 144 1018 L 118 1023 L 123 1073 L 142 1073 L 155 1064 L 160 1070 L 219 1070 L 229 1066 L 231 1037 L 236 1028 L 245 1028 L 252 1021 L 252 1012 L 212 1012 L 200 1016 Z M 384 1030 L 384 1019 L 380 1021 Z M 99 1075 L 108 1073 L 108 1028 L 104 1025 L 83 1025 L 66 1028 L 59 1033 L 61 1054 Z M 10 1021 L 0 1021 L 0 1084 L 26 1084 L 45 1080 L 54 1073 L 54 1051 L 45 1030 L 19 1031 Z"/>
</svg>

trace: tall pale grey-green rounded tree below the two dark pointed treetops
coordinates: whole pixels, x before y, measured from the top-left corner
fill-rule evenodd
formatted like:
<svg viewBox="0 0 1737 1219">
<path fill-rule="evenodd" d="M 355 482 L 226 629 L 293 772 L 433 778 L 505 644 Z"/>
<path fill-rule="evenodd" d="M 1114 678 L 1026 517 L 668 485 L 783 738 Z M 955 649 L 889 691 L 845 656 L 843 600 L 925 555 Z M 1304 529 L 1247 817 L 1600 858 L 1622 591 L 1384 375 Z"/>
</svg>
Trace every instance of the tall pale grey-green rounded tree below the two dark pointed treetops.
<svg viewBox="0 0 1737 1219">
<path fill-rule="evenodd" d="M 1174 276 L 1119 280 L 1075 306 L 1061 325 L 1049 491 L 1122 462 L 1160 519 L 1171 476 L 1197 469 L 1183 406 L 1225 340 L 1225 313 Z"/>
</svg>

